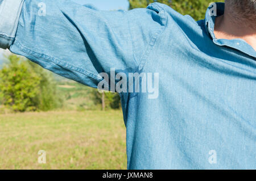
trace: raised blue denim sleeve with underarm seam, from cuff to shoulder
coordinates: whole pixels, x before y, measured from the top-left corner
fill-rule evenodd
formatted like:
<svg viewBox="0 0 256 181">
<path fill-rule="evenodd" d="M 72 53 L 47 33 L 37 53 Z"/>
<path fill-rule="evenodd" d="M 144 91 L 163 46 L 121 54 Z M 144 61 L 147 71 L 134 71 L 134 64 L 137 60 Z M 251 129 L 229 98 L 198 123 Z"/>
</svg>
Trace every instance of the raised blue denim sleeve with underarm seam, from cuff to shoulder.
<svg viewBox="0 0 256 181">
<path fill-rule="evenodd" d="M 13 5 L 19 9 L 13 16 L 19 19 L 13 22 L 15 37 L 6 46 L 56 74 L 97 87 L 99 73 L 138 70 L 164 26 L 163 10 L 153 4 L 147 9 L 97 11 L 66 0 L 25 0 L 21 12 Z"/>
</svg>

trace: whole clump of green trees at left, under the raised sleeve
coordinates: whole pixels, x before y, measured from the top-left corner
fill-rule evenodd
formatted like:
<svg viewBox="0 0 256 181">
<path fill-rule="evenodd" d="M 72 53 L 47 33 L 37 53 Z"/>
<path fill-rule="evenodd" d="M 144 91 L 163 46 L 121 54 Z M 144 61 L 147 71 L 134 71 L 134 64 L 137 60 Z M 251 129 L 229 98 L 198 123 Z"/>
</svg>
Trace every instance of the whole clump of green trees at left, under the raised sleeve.
<svg viewBox="0 0 256 181">
<path fill-rule="evenodd" d="M 0 100 L 14 111 L 48 111 L 62 106 L 52 74 L 39 65 L 11 54 L 0 70 Z"/>
</svg>

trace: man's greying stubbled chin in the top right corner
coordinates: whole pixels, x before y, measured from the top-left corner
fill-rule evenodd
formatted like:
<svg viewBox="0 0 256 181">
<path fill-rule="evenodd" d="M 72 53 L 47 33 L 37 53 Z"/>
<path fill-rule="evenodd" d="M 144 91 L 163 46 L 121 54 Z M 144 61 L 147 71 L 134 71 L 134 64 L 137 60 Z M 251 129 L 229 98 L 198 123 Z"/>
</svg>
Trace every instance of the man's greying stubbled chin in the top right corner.
<svg viewBox="0 0 256 181">
<path fill-rule="evenodd" d="M 256 27 L 256 0 L 225 0 L 225 11 L 237 19 Z"/>
</svg>

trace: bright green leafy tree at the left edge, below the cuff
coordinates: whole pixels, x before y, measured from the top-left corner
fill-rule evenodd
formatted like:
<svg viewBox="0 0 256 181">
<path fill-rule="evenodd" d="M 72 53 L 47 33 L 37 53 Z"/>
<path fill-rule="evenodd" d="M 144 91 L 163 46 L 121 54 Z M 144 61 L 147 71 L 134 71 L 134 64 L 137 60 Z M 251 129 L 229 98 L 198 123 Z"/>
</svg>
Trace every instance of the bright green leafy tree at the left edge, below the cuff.
<svg viewBox="0 0 256 181">
<path fill-rule="evenodd" d="M 28 70 L 20 57 L 10 55 L 10 63 L 0 71 L 0 97 L 14 111 L 35 111 L 40 77 Z"/>
</svg>

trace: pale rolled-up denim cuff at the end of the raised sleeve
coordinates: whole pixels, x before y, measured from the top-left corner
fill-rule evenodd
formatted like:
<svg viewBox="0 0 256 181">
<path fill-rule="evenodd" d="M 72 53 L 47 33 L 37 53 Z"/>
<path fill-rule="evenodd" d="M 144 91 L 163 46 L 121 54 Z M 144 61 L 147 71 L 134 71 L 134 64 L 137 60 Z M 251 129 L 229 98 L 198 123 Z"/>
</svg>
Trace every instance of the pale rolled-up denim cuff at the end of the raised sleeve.
<svg viewBox="0 0 256 181">
<path fill-rule="evenodd" d="M 0 48 L 13 44 L 24 0 L 0 0 Z"/>
</svg>

